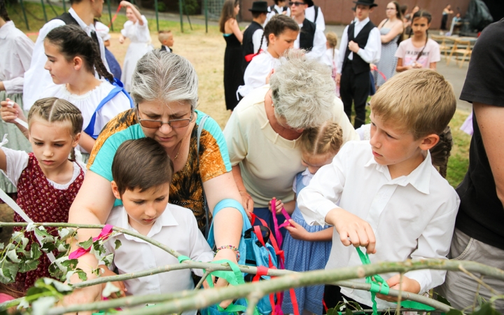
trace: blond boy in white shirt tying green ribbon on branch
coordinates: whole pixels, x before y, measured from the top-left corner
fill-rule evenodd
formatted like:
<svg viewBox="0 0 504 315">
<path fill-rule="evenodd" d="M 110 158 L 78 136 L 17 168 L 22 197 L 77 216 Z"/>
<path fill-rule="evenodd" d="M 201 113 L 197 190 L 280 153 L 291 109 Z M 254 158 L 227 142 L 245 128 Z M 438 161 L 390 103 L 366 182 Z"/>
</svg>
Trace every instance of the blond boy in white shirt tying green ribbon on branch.
<svg viewBox="0 0 504 315">
<path fill-rule="evenodd" d="M 297 199 L 307 223 L 335 227 L 326 269 L 362 265 L 353 246 L 364 246 L 371 262 L 446 258 L 460 200 L 432 166 L 429 149 L 455 109 L 453 88 L 435 71 L 405 71 L 380 87 L 371 104 L 370 141 L 347 142 Z M 406 272 L 402 290 L 424 293 L 445 274 Z M 399 288 L 399 274 L 381 276 Z M 327 297 L 328 307 L 343 297 L 372 305 L 363 290 L 337 288 L 333 300 Z M 377 297 L 379 309 L 395 307 L 395 297 Z"/>
</svg>

